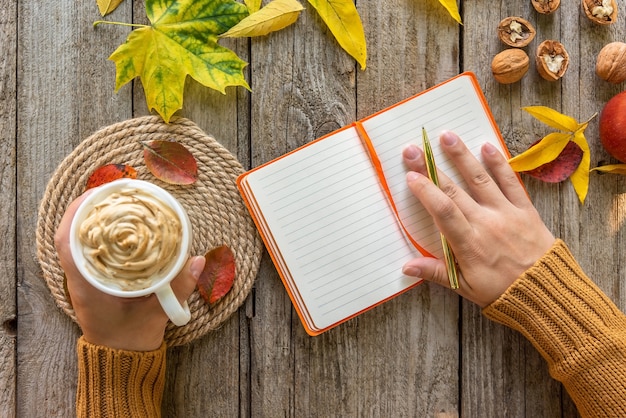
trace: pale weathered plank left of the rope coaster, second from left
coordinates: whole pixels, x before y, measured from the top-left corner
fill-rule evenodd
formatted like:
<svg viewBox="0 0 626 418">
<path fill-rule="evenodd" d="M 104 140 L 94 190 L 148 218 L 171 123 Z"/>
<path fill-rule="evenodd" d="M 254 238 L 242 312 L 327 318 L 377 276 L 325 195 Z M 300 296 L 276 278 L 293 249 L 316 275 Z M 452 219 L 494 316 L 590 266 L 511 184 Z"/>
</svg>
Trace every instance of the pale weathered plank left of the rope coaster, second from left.
<svg viewBox="0 0 626 418">
<path fill-rule="evenodd" d="M 78 328 L 42 280 L 37 211 L 48 179 L 74 146 L 130 116 L 130 95 L 113 93 L 113 69 L 106 65 L 124 38 L 112 27 L 93 28 L 99 13 L 92 2 L 19 2 L 18 16 L 17 415 L 72 416 Z M 124 16 L 130 4 L 116 11 Z"/>
</svg>

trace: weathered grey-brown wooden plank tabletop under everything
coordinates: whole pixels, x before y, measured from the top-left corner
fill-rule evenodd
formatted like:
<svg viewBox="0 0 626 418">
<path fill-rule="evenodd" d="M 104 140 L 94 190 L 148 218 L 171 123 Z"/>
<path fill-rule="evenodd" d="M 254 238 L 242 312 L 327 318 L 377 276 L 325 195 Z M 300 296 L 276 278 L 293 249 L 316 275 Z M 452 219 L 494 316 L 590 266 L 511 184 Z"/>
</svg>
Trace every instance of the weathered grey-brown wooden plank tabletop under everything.
<svg viewBox="0 0 626 418">
<path fill-rule="evenodd" d="M 358 1 L 367 69 L 341 50 L 311 6 L 296 24 L 259 39 L 223 42 L 250 65 L 252 92 L 226 95 L 188 80 L 181 115 L 255 167 L 323 134 L 469 70 L 516 154 L 549 132 L 521 107 L 545 105 L 585 120 L 624 89 L 600 80 L 595 57 L 626 39 L 620 17 L 597 26 L 580 0 L 540 15 L 530 0 L 461 2 L 458 26 L 436 0 Z M 146 22 L 126 0 L 109 20 Z M 570 53 L 559 82 L 499 85 L 498 22 L 522 16 L 537 29 L 527 47 L 561 41 Z M 0 416 L 74 412 L 78 327 L 55 305 L 35 250 L 37 210 L 61 160 L 95 130 L 148 114 L 135 82 L 114 93 L 107 61 L 129 28 L 92 26 L 94 0 L 0 0 Z M 587 129 L 591 164 L 613 161 Z M 626 183 L 592 175 L 584 205 L 571 184 L 525 178 L 555 235 L 626 308 Z M 515 239 L 515 237 L 511 237 Z M 451 291 L 423 285 L 321 336 L 304 332 L 264 255 L 255 288 L 217 331 L 171 349 L 167 417 L 572 417 L 563 387 L 517 333 L 481 316 Z"/>
</svg>

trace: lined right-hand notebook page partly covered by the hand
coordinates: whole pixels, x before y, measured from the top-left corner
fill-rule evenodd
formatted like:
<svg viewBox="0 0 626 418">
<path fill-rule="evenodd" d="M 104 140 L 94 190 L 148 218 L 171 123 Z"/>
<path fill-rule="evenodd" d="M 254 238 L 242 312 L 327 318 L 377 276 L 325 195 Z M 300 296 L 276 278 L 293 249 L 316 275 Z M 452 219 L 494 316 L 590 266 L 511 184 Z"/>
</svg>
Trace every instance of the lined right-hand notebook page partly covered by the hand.
<svg viewBox="0 0 626 418">
<path fill-rule="evenodd" d="M 489 118 L 481 96 L 469 75 L 416 96 L 362 121 L 383 165 L 385 177 L 407 231 L 429 253 L 443 257 L 439 230 L 419 201 L 406 187 L 402 150 L 408 144 L 422 147 L 422 127 L 430 138 L 437 168 L 465 187 L 463 179 L 439 146 L 443 130 L 454 131 L 476 156 L 485 142 L 503 152 L 497 128 Z"/>
</svg>

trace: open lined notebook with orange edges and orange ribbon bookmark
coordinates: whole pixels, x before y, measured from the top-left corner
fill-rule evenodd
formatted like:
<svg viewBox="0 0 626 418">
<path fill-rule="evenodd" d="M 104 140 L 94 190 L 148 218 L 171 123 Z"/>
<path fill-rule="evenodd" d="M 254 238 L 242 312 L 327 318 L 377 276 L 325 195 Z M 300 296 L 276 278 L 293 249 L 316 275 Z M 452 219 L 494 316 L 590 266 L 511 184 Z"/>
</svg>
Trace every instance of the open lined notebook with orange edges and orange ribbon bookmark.
<svg viewBox="0 0 626 418">
<path fill-rule="evenodd" d="M 402 274 L 408 260 L 442 256 L 439 231 L 407 188 L 401 155 L 421 145 L 422 127 L 439 170 L 459 184 L 439 149 L 441 131 L 456 132 L 475 155 L 491 142 L 508 156 L 475 76 L 463 73 L 238 178 L 310 335 L 417 285 Z"/>
</svg>

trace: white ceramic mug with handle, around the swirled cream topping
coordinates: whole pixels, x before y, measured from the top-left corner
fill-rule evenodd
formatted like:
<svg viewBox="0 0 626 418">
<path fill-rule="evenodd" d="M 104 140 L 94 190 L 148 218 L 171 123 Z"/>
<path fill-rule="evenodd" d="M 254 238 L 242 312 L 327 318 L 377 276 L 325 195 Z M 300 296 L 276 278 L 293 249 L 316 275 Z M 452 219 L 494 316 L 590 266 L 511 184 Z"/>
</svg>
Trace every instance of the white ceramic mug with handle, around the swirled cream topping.
<svg viewBox="0 0 626 418">
<path fill-rule="evenodd" d="M 101 278 L 98 278 L 99 273 L 95 272 L 90 266 L 89 261 L 83 253 L 83 245 L 81 244 L 79 238 L 80 226 L 95 205 L 112 193 L 120 192 L 122 190 L 139 190 L 159 200 L 166 206 L 169 206 L 178 216 L 182 227 L 181 235 L 179 237 L 180 243 L 178 253 L 175 255 L 175 261 L 169 265 L 169 268 L 166 271 L 160 272 L 156 277 L 151 276 L 150 284 L 140 290 L 123 290 L 119 286 L 107 284 Z M 74 263 L 76 264 L 78 271 L 92 286 L 104 293 L 122 298 L 135 298 L 154 293 L 156 294 L 169 319 L 172 323 L 178 326 L 185 325 L 189 322 L 191 313 L 189 311 L 189 305 L 186 301 L 182 305 L 179 303 L 176 295 L 174 295 L 174 292 L 172 291 L 170 282 L 185 266 L 191 251 L 191 243 L 191 222 L 189 221 L 189 217 L 187 216 L 187 213 L 182 205 L 165 189 L 142 180 L 120 179 L 95 188 L 83 200 L 83 202 L 81 202 L 70 226 L 70 250 Z"/>
</svg>

